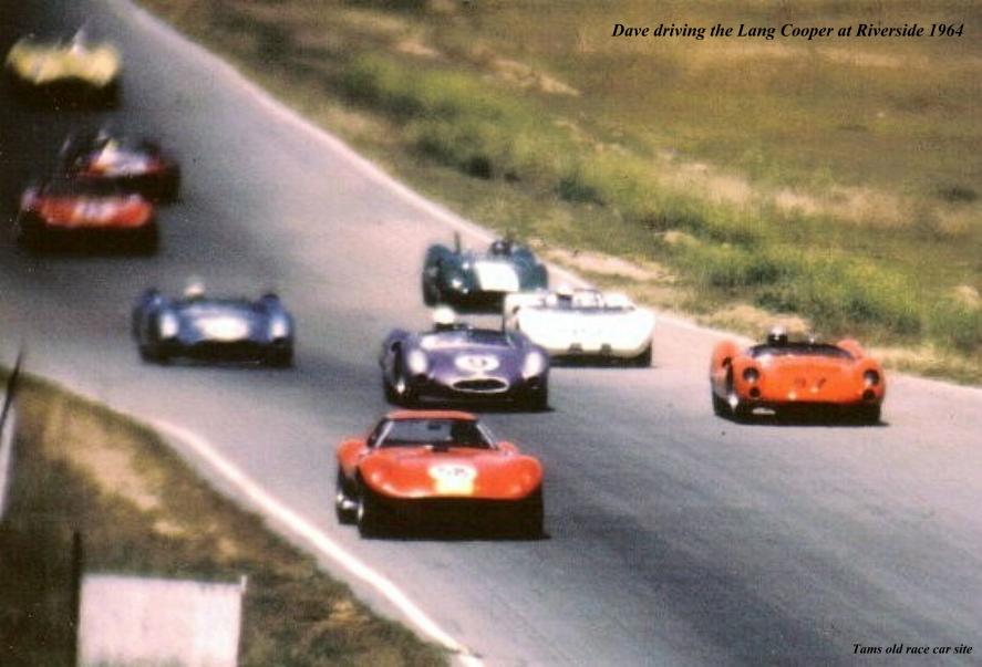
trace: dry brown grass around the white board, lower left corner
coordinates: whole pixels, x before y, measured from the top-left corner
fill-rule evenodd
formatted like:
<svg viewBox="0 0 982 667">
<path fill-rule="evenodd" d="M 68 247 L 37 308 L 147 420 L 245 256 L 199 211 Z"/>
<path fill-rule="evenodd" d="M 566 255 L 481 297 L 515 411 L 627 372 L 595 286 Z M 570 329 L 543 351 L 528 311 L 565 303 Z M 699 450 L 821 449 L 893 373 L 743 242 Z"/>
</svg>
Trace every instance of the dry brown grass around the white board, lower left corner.
<svg viewBox="0 0 982 667">
<path fill-rule="evenodd" d="M 89 571 L 246 574 L 244 666 L 446 664 L 210 490 L 154 432 L 37 379 L 20 393 L 11 501 L 0 527 L 0 665 L 68 663 L 74 531 Z"/>
</svg>

